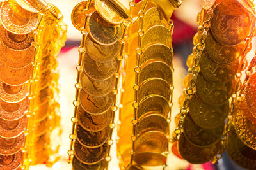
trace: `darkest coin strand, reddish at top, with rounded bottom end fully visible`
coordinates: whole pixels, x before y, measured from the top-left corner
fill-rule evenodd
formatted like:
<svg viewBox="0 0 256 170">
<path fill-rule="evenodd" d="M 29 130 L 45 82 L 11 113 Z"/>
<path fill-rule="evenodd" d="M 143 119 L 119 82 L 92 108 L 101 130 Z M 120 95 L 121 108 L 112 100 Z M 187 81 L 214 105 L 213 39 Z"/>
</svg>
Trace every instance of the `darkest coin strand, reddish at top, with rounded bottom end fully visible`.
<svg viewBox="0 0 256 170">
<path fill-rule="evenodd" d="M 253 5 L 248 10 L 243 5 L 235 0 L 212 1 L 203 4 L 198 15 L 200 27 L 187 61 L 189 75 L 175 130 L 179 153 L 192 164 L 216 161 L 225 150 L 229 131 L 225 120 L 241 87 L 244 58 L 251 47 Z"/>
</svg>

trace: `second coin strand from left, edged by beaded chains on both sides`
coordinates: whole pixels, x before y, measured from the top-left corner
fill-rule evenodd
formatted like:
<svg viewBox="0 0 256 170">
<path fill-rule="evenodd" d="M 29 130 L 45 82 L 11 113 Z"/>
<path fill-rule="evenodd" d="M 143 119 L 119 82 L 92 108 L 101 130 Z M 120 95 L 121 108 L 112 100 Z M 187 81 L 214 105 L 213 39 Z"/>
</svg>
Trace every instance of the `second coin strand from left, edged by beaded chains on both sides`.
<svg viewBox="0 0 256 170">
<path fill-rule="evenodd" d="M 70 135 L 74 155 L 69 154 L 74 169 L 104 169 L 111 160 L 118 71 L 124 46 L 120 44 L 124 19 L 113 9 L 105 1 L 95 0 L 77 4 L 72 12 L 73 24 L 83 34 Z"/>
</svg>

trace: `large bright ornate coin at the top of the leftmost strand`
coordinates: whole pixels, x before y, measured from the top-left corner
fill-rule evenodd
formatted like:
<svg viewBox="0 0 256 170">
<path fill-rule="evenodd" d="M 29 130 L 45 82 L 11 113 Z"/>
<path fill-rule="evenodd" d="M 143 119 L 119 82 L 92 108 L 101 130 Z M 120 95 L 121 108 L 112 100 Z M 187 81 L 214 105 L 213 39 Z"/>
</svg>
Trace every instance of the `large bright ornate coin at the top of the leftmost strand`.
<svg viewBox="0 0 256 170">
<path fill-rule="evenodd" d="M 29 17 L 20 16 L 12 10 L 8 1 L 4 1 L 0 8 L 0 21 L 4 29 L 13 34 L 24 35 L 32 32 L 38 23 L 38 15 L 35 14 Z"/>
</svg>

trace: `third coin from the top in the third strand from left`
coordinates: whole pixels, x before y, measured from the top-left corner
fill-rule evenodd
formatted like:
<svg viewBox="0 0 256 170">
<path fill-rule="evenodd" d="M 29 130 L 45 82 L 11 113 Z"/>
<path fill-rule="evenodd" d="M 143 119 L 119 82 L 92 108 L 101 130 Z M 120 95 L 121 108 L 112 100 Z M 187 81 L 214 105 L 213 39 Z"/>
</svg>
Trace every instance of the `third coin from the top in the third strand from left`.
<svg viewBox="0 0 256 170">
<path fill-rule="evenodd" d="M 169 67 L 172 67 L 173 52 L 168 46 L 163 44 L 150 45 L 143 50 L 140 65 L 152 59 L 159 59 L 165 62 Z"/>
</svg>

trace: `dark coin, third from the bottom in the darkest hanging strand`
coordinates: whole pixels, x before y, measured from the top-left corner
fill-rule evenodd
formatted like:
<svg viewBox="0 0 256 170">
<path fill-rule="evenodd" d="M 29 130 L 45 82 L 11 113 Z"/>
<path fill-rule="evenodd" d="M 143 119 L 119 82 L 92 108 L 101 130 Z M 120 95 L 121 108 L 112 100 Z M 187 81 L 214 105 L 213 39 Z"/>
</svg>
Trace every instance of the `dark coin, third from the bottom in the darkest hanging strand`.
<svg viewBox="0 0 256 170">
<path fill-rule="evenodd" d="M 223 125 L 229 111 L 229 103 L 220 106 L 211 106 L 202 103 L 200 99 L 193 95 L 189 103 L 189 114 L 196 125 L 203 129 L 215 129 Z"/>
</svg>

